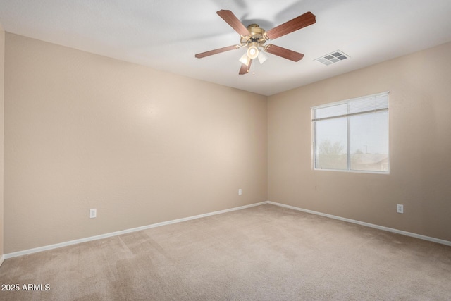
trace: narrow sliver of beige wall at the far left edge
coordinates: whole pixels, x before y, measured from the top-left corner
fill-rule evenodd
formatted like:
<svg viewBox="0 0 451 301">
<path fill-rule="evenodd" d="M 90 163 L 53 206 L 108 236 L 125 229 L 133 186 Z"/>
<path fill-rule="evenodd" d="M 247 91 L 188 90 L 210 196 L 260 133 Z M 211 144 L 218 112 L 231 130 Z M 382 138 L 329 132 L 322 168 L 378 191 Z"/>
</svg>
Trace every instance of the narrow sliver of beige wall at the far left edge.
<svg viewBox="0 0 451 301">
<path fill-rule="evenodd" d="M 4 74 L 5 74 L 5 32 L 0 25 L 0 264 L 4 254 L 4 200 L 3 200 L 3 154 L 4 154 Z"/>
</svg>

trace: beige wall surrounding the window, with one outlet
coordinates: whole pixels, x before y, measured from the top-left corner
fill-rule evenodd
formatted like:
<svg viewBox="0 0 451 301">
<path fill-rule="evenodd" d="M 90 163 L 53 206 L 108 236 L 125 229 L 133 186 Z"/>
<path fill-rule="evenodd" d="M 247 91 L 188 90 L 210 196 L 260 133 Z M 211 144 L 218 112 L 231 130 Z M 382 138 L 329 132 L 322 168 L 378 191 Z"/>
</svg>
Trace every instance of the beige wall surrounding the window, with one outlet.
<svg viewBox="0 0 451 301">
<path fill-rule="evenodd" d="M 443 44 L 269 97 L 268 199 L 451 241 L 450 54 Z M 385 91 L 390 175 L 313 171 L 311 106 Z"/>
</svg>

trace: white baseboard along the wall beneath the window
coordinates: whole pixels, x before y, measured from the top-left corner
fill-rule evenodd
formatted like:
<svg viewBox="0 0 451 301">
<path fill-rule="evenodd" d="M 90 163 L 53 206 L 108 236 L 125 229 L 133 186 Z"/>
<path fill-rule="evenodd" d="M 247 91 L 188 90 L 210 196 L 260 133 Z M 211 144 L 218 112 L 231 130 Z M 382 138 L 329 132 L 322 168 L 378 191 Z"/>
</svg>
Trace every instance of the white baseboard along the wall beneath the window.
<svg viewBox="0 0 451 301">
<path fill-rule="evenodd" d="M 356 221 L 354 219 L 346 219 L 345 217 L 335 216 L 335 215 L 331 215 L 331 214 L 325 214 L 325 213 L 318 212 L 318 211 L 302 209 L 302 208 L 299 208 L 299 207 L 294 207 L 294 206 L 290 206 L 290 205 L 280 204 L 280 203 L 276 203 L 276 202 L 268 201 L 266 203 L 267 204 L 273 204 L 273 205 L 280 206 L 280 207 L 289 208 L 289 209 L 294 209 L 294 210 L 297 210 L 297 211 L 303 211 L 303 212 L 307 212 L 307 213 L 310 213 L 310 214 L 326 216 L 326 217 L 328 217 L 330 219 L 338 219 L 340 221 L 347 221 L 348 223 L 357 223 L 358 225 L 362 225 L 362 226 L 366 226 L 366 227 L 376 228 L 376 229 L 383 230 L 383 231 L 389 231 L 389 232 L 393 232 L 393 233 L 397 233 L 397 234 L 401 234 L 401 235 L 410 236 L 412 238 L 419 238 L 421 240 L 428 240 L 428 241 L 431 241 L 431 242 L 440 243 L 442 245 L 449 245 L 449 246 L 451 246 L 451 241 L 448 241 L 448 240 L 440 240 L 438 238 L 431 238 L 431 237 L 426 236 L 426 235 L 420 235 L 420 234 L 411 233 L 411 232 L 407 232 L 407 231 L 397 230 L 397 229 L 394 229 L 394 228 L 378 226 L 378 225 L 374 225 L 373 223 L 365 223 L 364 221 Z"/>
</svg>

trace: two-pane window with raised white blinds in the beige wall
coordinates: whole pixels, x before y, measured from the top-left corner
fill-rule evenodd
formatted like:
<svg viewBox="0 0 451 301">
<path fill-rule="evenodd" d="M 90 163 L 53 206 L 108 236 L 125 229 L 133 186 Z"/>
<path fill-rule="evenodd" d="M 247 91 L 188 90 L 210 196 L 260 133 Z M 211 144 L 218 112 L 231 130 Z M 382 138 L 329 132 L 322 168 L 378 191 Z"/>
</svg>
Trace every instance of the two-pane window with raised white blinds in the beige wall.
<svg viewBox="0 0 451 301">
<path fill-rule="evenodd" d="M 314 169 L 388 173 L 388 92 L 311 108 Z"/>
</svg>

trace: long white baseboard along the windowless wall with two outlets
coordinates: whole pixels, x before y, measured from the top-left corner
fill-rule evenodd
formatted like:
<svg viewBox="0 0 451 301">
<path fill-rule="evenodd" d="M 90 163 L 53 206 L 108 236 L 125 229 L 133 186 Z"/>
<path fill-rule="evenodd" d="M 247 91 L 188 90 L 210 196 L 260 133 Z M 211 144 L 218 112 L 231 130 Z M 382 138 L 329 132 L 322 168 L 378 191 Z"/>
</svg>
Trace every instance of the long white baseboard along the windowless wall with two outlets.
<svg viewBox="0 0 451 301">
<path fill-rule="evenodd" d="M 68 242 L 56 243 L 54 245 L 46 245 L 44 247 L 35 247 L 35 248 L 29 249 L 29 250 L 23 250 L 23 251 L 4 254 L 4 256 L 2 257 L 2 260 L 3 260 L 3 258 L 8 259 L 8 258 L 12 258 L 12 257 L 26 255 L 26 254 L 32 254 L 32 253 L 52 250 L 52 249 L 56 249 L 58 247 L 66 247 L 68 245 L 76 245 L 76 244 L 82 243 L 82 242 L 88 242 L 88 241 L 92 241 L 92 240 L 100 240 L 102 238 L 109 238 L 111 236 L 121 235 L 121 234 L 125 234 L 125 233 L 146 230 L 149 228 L 155 228 L 155 227 L 159 227 L 159 226 L 171 225 L 171 223 L 181 223 L 183 221 L 190 221 L 192 219 L 201 219 L 202 217 L 206 217 L 206 216 L 212 216 L 212 215 L 216 215 L 216 214 L 227 213 L 230 211 L 242 210 L 242 209 L 255 207 L 255 206 L 259 206 L 259 205 L 263 205 L 263 204 L 266 204 L 266 202 L 260 202 L 260 203 L 245 205 L 245 206 L 241 206 L 241 207 L 235 207 L 235 208 L 231 208 L 231 209 L 214 211 L 214 212 L 210 212 L 210 213 L 206 213 L 206 214 L 199 214 L 199 215 L 195 215 L 195 216 L 185 217 L 183 219 L 174 219 L 172 221 L 163 221 L 161 223 L 153 223 L 152 225 L 141 226 L 141 227 L 137 227 L 137 228 L 130 228 L 130 229 L 122 230 L 122 231 L 105 233 L 105 234 L 101 234 L 101 235 L 90 236 L 89 238 L 80 238 L 78 240 L 70 240 Z"/>
</svg>

